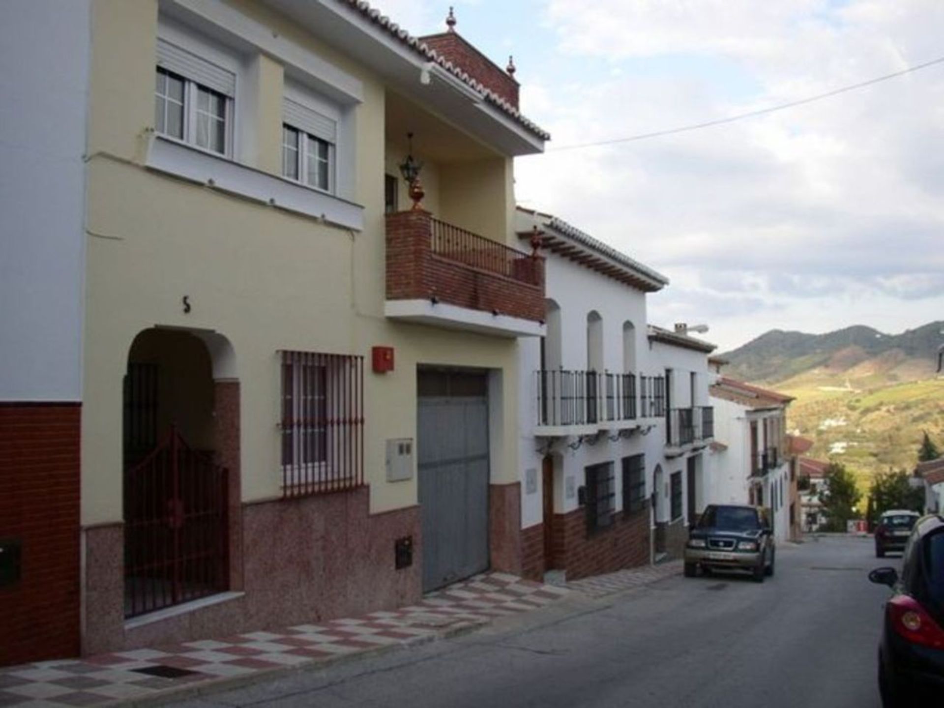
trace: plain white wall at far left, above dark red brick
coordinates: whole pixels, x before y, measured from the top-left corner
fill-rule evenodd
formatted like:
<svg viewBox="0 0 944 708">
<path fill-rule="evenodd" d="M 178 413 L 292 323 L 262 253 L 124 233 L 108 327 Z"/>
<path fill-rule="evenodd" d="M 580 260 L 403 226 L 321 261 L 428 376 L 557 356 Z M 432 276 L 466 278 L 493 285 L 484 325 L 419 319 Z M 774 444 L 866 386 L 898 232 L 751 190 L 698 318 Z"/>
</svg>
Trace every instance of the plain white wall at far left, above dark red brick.
<svg viewBox="0 0 944 708">
<path fill-rule="evenodd" d="M 81 400 L 90 0 L 0 3 L 0 400 Z"/>
</svg>

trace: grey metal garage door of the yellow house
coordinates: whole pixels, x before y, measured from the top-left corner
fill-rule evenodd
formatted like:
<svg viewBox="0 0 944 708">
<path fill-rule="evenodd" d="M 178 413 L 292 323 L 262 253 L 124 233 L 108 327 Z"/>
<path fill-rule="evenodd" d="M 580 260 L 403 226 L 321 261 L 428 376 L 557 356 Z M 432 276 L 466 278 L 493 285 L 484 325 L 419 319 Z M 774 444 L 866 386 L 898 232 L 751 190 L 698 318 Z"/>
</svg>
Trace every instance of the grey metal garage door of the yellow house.
<svg viewBox="0 0 944 708">
<path fill-rule="evenodd" d="M 423 591 L 488 567 L 484 374 L 420 371 L 417 421 Z"/>
</svg>

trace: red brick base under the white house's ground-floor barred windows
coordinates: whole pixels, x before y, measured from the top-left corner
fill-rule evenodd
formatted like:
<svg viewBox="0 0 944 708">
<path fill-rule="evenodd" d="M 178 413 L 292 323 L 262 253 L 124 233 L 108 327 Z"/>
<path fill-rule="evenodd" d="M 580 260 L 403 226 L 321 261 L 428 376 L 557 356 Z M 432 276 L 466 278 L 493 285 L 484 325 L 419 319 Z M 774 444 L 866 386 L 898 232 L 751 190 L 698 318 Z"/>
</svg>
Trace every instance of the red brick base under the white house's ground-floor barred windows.
<svg viewBox="0 0 944 708">
<path fill-rule="evenodd" d="M 649 564 L 649 513 L 617 512 L 614 525 L 588 534 L 584 510 L 554 514 L 554 565 L 568 581 Z"/>
</svg>

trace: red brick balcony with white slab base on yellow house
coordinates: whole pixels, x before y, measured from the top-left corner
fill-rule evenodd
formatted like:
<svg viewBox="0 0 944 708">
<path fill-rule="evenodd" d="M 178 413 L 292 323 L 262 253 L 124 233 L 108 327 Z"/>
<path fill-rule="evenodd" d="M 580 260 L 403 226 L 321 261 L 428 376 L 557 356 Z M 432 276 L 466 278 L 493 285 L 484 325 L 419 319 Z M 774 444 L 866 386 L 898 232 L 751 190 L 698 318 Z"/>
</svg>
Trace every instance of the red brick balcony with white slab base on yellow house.
<svg viewBox="0 0 944 708">
<path fill-rule="evenodd" d="M 544 259 L 432 218 L 387 214 L 391 319 L 499 337 L 544 332 Z"/>
</svg>

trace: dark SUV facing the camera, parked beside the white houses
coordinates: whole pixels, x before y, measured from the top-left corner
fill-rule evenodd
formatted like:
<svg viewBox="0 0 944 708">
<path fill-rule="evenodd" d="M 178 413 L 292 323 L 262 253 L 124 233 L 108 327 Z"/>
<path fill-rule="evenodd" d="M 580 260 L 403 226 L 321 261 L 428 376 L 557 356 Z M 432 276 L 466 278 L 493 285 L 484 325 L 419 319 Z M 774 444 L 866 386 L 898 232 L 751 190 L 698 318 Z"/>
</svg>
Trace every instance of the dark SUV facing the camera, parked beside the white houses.
<svg viewBox="0 0 944 708">
<path fill-rule="evenodd" d="M 685 544 L 685 577 L 702 570 L 748 570 L 754 581 L 773 575 L 774 541 L 767 509 L 709 504 Z"/>
</svg>

